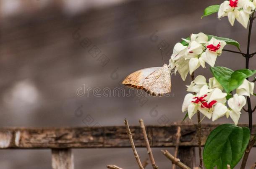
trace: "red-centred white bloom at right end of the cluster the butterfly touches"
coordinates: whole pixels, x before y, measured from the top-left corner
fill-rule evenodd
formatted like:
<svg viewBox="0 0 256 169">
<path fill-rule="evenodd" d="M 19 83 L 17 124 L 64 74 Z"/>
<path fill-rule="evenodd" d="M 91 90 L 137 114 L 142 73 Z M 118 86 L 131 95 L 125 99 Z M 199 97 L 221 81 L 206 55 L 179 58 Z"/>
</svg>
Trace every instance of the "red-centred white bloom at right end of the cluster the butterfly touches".
<svg viewBox="0 0 256 169">
<path fill-rule="evenodd" d="M 202 60 L 208 63 L 210 66 L 214 66 L 218 55 L 221 55 L 222 49 L 227 43 L 223 40 L 217 40 L 212 38 L 206 43 L 206 51 L 202 53 Z"/>
</svg>

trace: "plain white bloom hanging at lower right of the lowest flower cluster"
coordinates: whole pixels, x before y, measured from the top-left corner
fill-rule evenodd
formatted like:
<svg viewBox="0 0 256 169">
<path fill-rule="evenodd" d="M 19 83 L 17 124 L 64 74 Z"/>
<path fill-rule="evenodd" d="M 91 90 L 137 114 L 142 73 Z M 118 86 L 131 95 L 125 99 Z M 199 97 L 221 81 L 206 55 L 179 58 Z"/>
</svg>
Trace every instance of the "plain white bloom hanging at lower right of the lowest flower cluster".
<svg viewBox="0 0 256 169">
<path fill-rule="evenodd" d="M 234 121 L 235 125 L 237 125 L 241 114 L 240 111 L 243 106 L 246 105 L 246 98 L 244 96 L 239 96 L 236 93 L 232 98 L 227 101 L 227 103 L 230 107 L 230 110 L 227 111 L 226 116 L 227 118 L 230 116 L 231 119 Z"/>
</svg>

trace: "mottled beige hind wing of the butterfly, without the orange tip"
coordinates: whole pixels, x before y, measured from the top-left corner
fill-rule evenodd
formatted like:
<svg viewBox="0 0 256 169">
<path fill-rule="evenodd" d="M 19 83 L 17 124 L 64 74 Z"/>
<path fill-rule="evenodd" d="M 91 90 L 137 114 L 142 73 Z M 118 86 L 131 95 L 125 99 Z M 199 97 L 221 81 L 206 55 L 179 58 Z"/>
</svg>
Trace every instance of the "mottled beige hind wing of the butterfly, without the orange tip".
<svg viewBox="0 0 256 169">
<path fill-rule="evenodd" d="M 171 75 L 168 66 L 157 69 L 142 81 L 143 89 L 152 96 L 163 96 L 171 92 Z"/>
</svg>

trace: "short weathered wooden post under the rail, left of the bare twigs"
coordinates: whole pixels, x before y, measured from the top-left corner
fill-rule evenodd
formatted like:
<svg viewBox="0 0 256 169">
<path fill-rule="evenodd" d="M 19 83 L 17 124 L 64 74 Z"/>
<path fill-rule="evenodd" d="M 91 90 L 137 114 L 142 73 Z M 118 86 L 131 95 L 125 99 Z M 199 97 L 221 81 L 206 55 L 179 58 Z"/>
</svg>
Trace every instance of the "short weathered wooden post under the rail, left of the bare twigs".
<svg viewBox="0 0 256 169">
<path fill-rule="evenodd" d="M 71 149 L 52 149 L 52 169 L 74 169 Z"/>
</svg>

